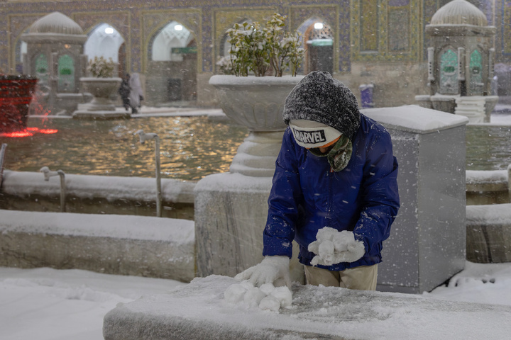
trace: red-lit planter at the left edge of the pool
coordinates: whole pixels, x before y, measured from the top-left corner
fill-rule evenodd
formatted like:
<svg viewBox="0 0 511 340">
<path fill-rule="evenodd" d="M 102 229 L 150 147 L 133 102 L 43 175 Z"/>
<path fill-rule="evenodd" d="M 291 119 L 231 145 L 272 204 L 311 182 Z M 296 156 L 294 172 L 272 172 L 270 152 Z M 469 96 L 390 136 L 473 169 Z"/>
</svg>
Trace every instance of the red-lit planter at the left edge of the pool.
<svg viewBox="0 0 511 340">
<path fill-rule="evenodd" d="M 30 76 L 0 77 L 0 133 L 26 129 L 28 106 L 37 81 Z"/>
</svg>

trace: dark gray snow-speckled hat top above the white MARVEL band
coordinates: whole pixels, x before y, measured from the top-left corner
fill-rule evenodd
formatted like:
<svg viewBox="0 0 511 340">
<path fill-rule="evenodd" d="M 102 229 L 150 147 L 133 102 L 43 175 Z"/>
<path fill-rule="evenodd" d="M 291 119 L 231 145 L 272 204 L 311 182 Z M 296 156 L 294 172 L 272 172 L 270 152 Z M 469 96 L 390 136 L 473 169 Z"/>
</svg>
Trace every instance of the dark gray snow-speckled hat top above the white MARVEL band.
<svg viewBox="0 0 511 340">
<path fill-rule="evenodd" d="M 282 118 L 287 125 L 297 119 L 323 123 L 351 139 L 360 125 L 360 115 L 350 89 L 328 72 L 314 71 L 287 96 Z"/>
</svg>

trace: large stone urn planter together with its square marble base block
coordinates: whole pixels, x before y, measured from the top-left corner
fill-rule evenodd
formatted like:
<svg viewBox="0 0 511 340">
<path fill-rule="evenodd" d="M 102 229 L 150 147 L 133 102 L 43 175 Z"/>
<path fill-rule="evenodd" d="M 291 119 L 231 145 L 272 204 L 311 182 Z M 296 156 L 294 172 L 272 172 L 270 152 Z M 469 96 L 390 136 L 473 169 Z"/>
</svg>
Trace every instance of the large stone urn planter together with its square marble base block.
<svg viewBox="0 0 511 340">
<path fill-rule="evenodd" d="M 213 76 L 224 113 L 248 128 L 231 169 L 201 179 L 195 194 L 197 275 L 234 276 L 263 259 L 263 229 L 268 195 L 282 135 L 285 98 L 301 77 Z M 297 259 L 290 262 L 292 280 L 304 282 Z"/>
</svg>

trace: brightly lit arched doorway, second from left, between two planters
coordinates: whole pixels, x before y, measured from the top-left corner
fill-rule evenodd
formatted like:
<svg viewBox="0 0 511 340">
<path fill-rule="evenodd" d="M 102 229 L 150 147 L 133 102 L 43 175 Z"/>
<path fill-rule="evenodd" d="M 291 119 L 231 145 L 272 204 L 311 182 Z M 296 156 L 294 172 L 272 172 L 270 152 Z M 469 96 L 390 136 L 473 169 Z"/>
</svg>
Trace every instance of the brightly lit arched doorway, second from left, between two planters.
<svg viewBox="0 0 511 340">
<path fill-rule="evenodd" d="M 181 23 L 170 21 L 148 44 L 147 103 L 187 106 L 197 101 L 197 42 Z"/>
</svg>

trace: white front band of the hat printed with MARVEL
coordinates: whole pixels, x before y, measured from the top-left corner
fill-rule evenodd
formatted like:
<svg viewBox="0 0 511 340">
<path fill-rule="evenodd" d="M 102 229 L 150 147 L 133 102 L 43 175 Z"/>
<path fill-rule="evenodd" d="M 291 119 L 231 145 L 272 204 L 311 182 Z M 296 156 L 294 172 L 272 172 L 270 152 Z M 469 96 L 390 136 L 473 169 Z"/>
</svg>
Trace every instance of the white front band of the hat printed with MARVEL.
<svg viewBox="0 0 511 340">
<path fill-rule="evenodd" d="M 297 144 L 307 149 L 327 147 L 341 137 L 339 130 L 313 120 L 292 119 L 289 125 Z"/>
</svg>

